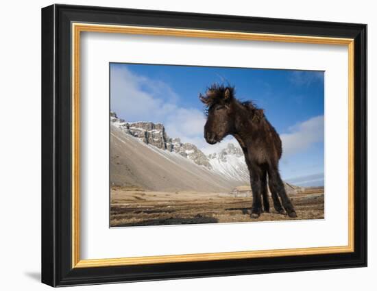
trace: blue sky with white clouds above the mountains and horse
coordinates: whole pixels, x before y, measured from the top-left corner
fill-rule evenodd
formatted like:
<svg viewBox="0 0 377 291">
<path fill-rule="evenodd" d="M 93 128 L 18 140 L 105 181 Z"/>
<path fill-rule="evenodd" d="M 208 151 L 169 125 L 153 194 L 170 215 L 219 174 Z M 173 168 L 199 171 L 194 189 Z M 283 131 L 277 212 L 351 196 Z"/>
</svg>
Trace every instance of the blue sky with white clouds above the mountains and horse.
<svg viewBox="0 0 377 291">
<path fill-rule="evenodd" d="M 110 108 L 125 121 L 163 123 L 170 137 L 192 142 L 204 153 L 234 142 L 206 144 L 204 106 L 198 99 L 212 83 L 236 87 L 252 100 L 282 138 L 280 173 L 302 186 L 324 184 L 324 72 L 110 64 Z"/>
</svg>

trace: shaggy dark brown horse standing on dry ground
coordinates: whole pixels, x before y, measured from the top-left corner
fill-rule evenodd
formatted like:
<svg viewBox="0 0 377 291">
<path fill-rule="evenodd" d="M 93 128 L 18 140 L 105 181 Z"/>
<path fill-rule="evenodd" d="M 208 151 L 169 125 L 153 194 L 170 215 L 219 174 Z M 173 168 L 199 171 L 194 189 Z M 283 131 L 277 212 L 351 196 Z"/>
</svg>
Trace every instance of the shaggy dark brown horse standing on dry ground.
<svg viewBox="0 0 377 291">
<path fill-rule="evenodd" d="M 269 212 L 267 175 L 276 211 L 284 214 L 283 205 L 290 217 L 297 217 L 279 174 L 282 142 L 263 110 L 250 101 L 238 101 L 234 87 L 223 85 L 213 84 L 205 95 L 199 94 L 199 99 L 207 107 L 206 142 L 215 144 L 232 135 L 243 150 L 253 193 L 252 218 L 258 218 L 263 211 L 261 197 L 265 212 Z"/>
</svg>

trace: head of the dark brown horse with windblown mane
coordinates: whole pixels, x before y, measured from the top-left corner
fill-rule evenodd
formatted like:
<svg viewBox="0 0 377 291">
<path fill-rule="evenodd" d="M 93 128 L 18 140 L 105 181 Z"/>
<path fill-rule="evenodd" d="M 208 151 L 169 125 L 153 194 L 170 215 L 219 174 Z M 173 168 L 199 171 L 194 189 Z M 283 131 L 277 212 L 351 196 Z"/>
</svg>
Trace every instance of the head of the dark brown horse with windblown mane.
<svg viewBox="0 0 377 291">
<path fill-rule="evenodd" d="M 234 130 L 234 88 L 212 85 L 206 94 L 199 94 L 199 99 L 206 105 L 207 122 L 204 125 L 204 138 L 209 144 L 221 142 Z"/>
</svg>

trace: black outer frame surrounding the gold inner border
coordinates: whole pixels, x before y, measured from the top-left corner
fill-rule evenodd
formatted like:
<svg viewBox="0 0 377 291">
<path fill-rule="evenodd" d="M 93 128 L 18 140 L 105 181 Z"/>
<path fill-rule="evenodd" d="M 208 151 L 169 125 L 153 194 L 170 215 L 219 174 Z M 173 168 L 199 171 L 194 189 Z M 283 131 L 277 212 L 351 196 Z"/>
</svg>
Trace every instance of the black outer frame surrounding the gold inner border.
<svg viewBox="0 0 377 291">
<path fill-rule="evenodd" d="M 71 22 L 354 39 L 354 253 L 71 268 Z M 215 277 L 367 266 L 367 25 L 76 5 L 42 8 L 42 283 Z"/>
</svg>

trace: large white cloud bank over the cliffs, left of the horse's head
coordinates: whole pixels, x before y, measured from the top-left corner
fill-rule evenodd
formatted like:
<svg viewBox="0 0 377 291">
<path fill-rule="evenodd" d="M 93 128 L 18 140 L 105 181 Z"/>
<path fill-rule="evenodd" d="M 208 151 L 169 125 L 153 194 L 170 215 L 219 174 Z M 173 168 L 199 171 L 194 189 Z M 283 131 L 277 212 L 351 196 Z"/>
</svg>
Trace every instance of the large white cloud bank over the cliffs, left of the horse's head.
<svg viewBox="0 0 377 291">
<path fill-rule="evenodd" d="M 206 123 L 203 112 L 179 107 L 178 95 L 170 86 L 136 75 L 124 66 L 112 66 L 111 70 L 110 107 L 120 118 L 163 123 L 172 138 L 179 137 L 182 142 L 198 146 L 204 142 L 201 138 Z"/>
</svg>

